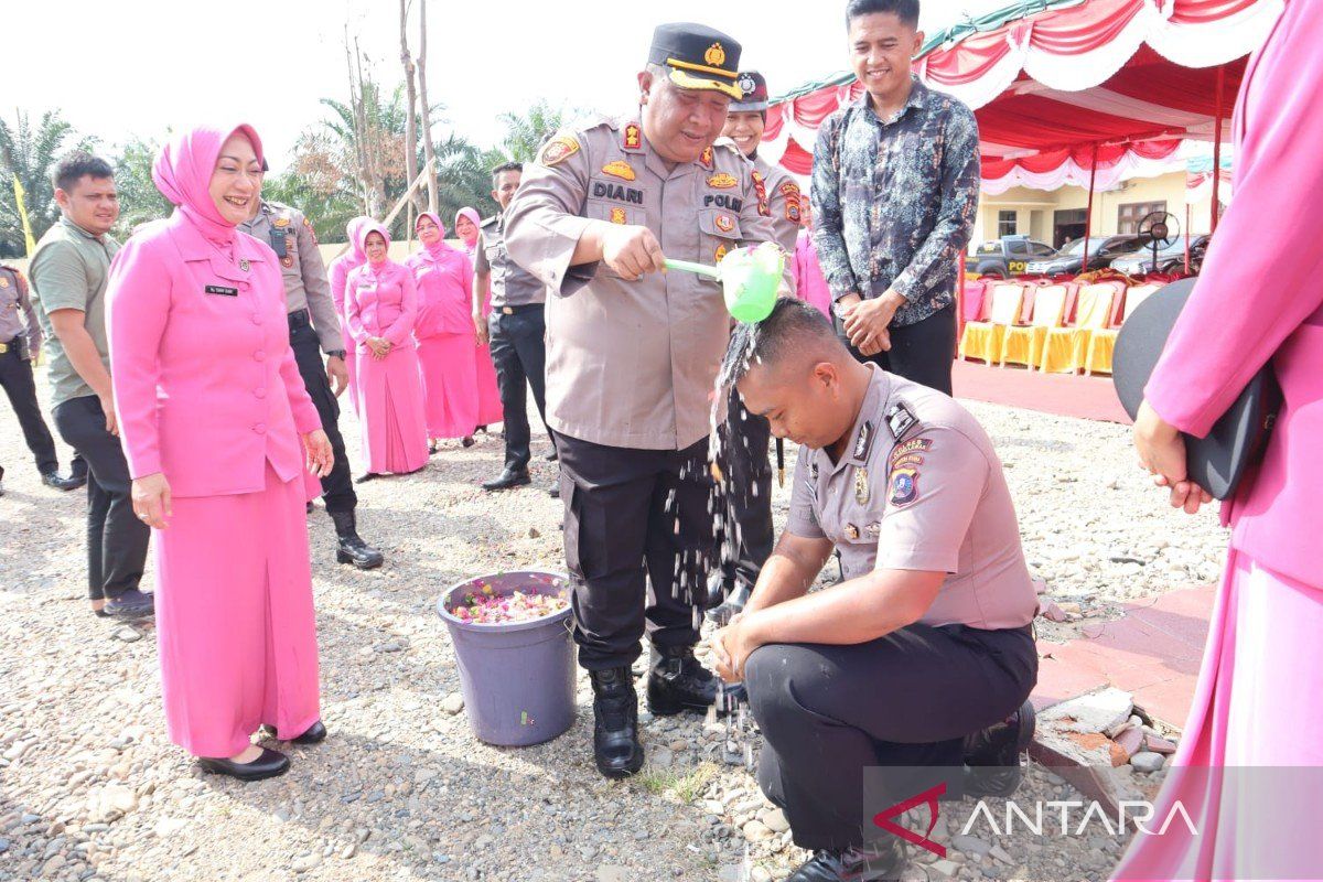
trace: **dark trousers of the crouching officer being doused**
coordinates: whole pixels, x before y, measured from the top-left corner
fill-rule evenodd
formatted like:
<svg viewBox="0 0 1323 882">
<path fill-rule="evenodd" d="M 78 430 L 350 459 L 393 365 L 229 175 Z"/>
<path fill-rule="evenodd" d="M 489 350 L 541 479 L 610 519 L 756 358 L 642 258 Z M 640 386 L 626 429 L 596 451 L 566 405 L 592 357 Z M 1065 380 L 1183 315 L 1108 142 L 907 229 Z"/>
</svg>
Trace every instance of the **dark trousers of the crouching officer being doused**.
<svg viewBox="0 0 1323 882">
<path fill-rule="evenodd" d="M 1037 670 L 1028 627 L 916 624 L 855 645 L 761 647 L 745 662 L 765 739 L 758 783 L 795 845 L 857 846 L 892 804 L 865 812 L 865 767 L 959 767 L 964 737 L 1015 713 Z"/>
</svg>

